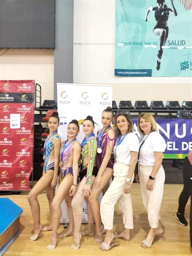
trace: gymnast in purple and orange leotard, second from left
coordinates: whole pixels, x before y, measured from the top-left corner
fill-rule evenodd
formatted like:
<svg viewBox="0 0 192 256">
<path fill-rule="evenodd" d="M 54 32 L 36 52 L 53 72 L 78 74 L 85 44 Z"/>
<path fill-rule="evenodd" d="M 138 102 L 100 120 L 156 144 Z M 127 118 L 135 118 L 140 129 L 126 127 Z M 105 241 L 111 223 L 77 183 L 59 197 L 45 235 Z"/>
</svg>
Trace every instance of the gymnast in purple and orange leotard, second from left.
<svg viewBox="0 0 192 256">
<path fill-rule="evenodd" d="M 53 228 L 50 243 L 47 246 L 48 250 L 53 250 L 55 248 L 58 237 L 63 238 L 72 236 L 74 233 L 73 210 L 71 207 L 71 201 L 77 189 L 78 163 L 81 154 L 81 146 L 76 140 L 78 133 L 78 121 L 72 120 L 67 127 L 68 139 L 62 143 L 60 150 L 60 185 L 51 204 Z M 57 230 L 62 214 L 60 206 L 64 199 L 68 210 L 69 228 L 67 232 L 63 232 L 58 235 Z"/>
</svg>

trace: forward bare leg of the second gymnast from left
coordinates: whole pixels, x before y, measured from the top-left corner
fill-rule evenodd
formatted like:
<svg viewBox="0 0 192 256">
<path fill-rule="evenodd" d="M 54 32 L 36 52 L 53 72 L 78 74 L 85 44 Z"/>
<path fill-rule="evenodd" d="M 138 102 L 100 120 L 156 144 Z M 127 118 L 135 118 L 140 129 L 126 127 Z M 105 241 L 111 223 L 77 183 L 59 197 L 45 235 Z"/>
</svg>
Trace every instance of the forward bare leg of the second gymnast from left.
<svg viewBox="0 0 192 256">
<path fill-rule="evenodd" d="M 51 204 L 52 208 L 52 225 L 53 230 L 51 233 L 50 243 L 47 246 L 48 250 L 53 250 L 57 243 L 57 230 L 59 227 L 60 219 L 61 219 L 61 203 L 64 198 L 68 195 L 70 187 L 73 185 L 73 176 L 68 175 L 66 176 L 63 181 L 61 182 L 57 194 L 55 195 L 53 202 Z"/>
</svg>

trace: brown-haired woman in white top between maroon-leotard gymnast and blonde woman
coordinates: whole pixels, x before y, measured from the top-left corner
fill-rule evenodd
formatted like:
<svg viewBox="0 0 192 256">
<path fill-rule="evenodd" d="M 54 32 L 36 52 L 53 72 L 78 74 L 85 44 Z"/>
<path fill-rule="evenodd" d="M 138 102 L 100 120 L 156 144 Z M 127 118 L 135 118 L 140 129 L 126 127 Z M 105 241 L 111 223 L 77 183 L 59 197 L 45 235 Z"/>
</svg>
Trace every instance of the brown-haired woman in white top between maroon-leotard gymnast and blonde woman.
<svg viewBox="0 0 192 256">
<path fill-rule="evenodd" d="M 133 123 L 126 114 L 118 114 L 115 118 L 117 142 L 114 147 L 115 164 L 113 166 L 114 179 L 103 196 L 100 204 L 100 214 L 106 236 L 100 249 L 110 250 L 119 245 L 119 241 L 112 242 L 114 238 L 130 239 L 130 229 L 133 228 L 132 199 L 130 187 L 134 179 L 134 169 L 137 163 L 139 140 L 133 133 Z M 118 200 L 119 209 L 122 211 L 124 230 L 113 234 L 114 206 Z"/>
</svg>

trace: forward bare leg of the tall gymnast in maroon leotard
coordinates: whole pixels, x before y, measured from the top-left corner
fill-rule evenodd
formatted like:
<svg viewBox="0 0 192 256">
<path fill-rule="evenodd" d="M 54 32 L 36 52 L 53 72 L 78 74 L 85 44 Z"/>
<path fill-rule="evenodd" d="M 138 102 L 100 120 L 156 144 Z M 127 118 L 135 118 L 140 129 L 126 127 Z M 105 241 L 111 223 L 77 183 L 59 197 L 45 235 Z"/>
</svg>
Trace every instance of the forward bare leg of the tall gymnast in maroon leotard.
<svg viewBox="0 0 192 256">
<path fill-rule="evenodd" d="M 109 180 L 111 179 L 113 175 L 113 170 L 111 168 L 106 168 L 105 171 L 102 174 L 101 178 L 101 186 L 98 191 L 94 190 L 94 186 L 92 187 L 92 192 L 88 198 L 91 207 L 93 209 L 93 215 L 94 215 L 94 220 L 95 220 L 95 228 L 96 228 L 96 243 L 101 243 L 103 241 L 102 237 L 102 228 L 101 228 L 101 217 L 100 217 L 100 205 L 98 203 L 97 197 L 102 191 L 103 188 L 106 187 L 106 185 L 109 184 Z"/>
</svg>

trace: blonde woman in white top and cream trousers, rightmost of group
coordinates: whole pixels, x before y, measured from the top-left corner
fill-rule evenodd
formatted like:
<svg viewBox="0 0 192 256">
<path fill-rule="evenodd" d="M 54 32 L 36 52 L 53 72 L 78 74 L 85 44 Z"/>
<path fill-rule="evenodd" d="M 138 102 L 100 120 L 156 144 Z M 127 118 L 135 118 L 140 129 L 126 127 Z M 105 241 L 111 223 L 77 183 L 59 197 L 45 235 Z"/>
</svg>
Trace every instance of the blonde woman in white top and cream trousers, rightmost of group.
<svg viewBox="0 0 192 256">
<path fill-rule="evenodd" d="M 138 117 L 139 175 L 135 179 L 141 185 L 143 204 L 148 213 L 150 230 L 141 247 L 151 247 L 156 234 L 163 232 L 160 224 L 160 207 L 163 197 L 165 173 L 162 167 L 162 153 L 166 148 L 164 138 L 157 132 L 157 124 L 149 113 Z"/>
</svg>

